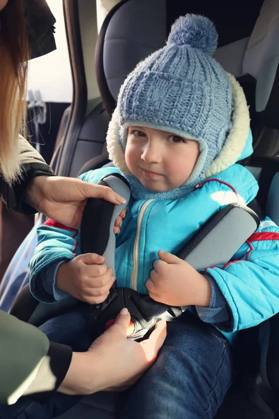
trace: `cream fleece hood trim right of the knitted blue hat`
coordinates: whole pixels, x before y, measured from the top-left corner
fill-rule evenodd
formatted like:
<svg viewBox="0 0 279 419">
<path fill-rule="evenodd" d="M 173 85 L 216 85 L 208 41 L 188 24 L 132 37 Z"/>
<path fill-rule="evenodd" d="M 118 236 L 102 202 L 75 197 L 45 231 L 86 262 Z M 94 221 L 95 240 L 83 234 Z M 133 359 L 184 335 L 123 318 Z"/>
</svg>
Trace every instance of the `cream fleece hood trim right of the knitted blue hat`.
<svg viewBox="0 0 279 419">
<path fill-rule="evenodd" d="M 211 177 L 232 166 L 239 160 L 250 130 L 250 115 L 244 91 L 232 74 L 227 73 L 232 85 L 232 128 L 223 148 L 206 169 L 203 177 Z"/>
</svg>

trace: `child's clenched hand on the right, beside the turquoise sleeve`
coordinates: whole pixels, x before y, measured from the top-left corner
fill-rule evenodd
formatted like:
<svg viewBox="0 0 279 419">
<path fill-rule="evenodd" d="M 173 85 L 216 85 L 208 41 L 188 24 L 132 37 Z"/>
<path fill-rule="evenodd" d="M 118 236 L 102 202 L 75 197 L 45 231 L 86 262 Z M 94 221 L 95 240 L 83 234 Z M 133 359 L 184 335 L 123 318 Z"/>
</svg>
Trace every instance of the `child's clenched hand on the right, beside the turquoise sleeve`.
<svg viewBox="0 0 279 419">
<path fill-rule="evenodd" d="M 207 307 L 211 297 L 209 280 L 172 253 L 159 250 L 158 256 L 146 281 L 150 297 L 171 306 Z"/>
</svg>

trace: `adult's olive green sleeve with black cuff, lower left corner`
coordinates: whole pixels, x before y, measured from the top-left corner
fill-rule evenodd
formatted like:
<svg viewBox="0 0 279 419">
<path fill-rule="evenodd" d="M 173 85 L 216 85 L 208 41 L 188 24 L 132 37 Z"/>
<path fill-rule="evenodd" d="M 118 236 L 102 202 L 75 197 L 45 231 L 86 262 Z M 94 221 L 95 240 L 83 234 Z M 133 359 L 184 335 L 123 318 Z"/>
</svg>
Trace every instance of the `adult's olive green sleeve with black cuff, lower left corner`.
<svg viewBox="0 0 279 419">
<path fill-rule="evenodd" d="M 22 395 L 44 401 L 66 376 L 72 358 L 69 346 L 54 344 L 33 325 L 0 311 L 0 404 L 14 404 Z"/>
</svg>

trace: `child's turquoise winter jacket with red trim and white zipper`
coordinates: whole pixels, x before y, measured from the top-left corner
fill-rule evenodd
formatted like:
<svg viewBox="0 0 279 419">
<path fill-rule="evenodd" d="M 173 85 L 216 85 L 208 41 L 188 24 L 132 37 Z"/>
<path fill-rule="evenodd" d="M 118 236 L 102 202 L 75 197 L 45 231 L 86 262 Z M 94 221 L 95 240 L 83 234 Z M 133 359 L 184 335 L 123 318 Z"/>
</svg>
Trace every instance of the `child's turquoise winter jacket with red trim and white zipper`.
<svg viewBox="0 0 279 419">
<path fill-rule="evenodd" d="M 80 179 L 97 184 L 112 172 L 119 170 L 91 170 Z M 257 191 L 255 177 L 243 166 L 234 164 L 198 184 L 185 198 L 137 201 L 131 198 L 121 233 L 116 236 L 117 286 L 147 293 L 145 282 L 154 260 L 158 259 L 159 249 L 176 254 L 213 214 L 229 203 L 250 203 Z M 36 277 L 47 265 L 56 260 L 71 260 L 78 254 L 78 230 L 52 220 L 38 228 L 38 246 L 30 263 L 31 292 L 36 295 L 40 286 Z M 224 329 L 229 340 L 236 330 L 255 326 L 278 313 L 279 228 L 268 217 L 225 266 L 204 268 L 227 301 L 231 321 L 224 328 L 218 327 Z"/>
</svg>

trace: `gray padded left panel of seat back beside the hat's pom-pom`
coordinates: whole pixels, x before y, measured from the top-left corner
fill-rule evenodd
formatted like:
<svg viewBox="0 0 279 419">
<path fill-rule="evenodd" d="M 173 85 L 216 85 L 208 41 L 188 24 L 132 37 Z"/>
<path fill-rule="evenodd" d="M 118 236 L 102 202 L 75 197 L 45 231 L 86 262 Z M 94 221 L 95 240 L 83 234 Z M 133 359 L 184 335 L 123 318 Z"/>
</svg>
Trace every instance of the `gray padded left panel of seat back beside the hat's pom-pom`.
<svg viewBox="0 0 279 419">
<path fill-rule="evenodd" d="M 133 0 L 112 16 L 105 34 L 105 78 L 114 99 L 136 64 L 165 44 L 166 1 Z"/>
</svg>

